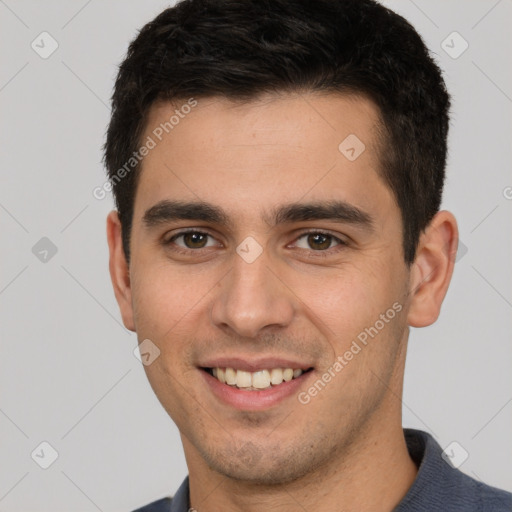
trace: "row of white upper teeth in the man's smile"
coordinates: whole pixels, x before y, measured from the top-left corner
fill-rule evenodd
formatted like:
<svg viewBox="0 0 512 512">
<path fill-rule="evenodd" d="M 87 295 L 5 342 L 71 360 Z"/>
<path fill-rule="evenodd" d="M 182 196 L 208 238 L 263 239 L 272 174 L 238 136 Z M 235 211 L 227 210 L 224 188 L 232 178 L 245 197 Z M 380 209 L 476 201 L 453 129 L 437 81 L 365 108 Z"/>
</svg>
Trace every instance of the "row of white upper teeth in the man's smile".
<svg viewBox="0 0 512 512">
<path fill-rule="evenodd" d="M 214 377 L 223 384 L 237 386 L 239 388 L 265 389 L 270 385 L 277 386 L 283 381 L 288 382 L 302 375 L 302 370 L 293 368 L 272 368 L 271 370 L 259 370 L 246 372 L 233 368 L 212 368 Z"/>
</svg>

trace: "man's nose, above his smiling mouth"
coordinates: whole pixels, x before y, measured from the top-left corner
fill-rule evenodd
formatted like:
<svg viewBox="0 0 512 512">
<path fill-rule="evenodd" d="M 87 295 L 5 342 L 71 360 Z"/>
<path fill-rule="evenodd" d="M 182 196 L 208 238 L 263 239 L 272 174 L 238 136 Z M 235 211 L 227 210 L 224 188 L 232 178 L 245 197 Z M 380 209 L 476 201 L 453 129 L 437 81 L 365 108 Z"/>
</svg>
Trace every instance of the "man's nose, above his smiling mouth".
<svg viewBox="0 0 512 512">
<path fill-rule="evenodd" d="M 294 315 L 293 293 L 271 268 L 265 251 L 252 263 L 238 254 L 220 283 L 211 318 L 220 329 L 256 338 L 270 327 L 288 326 Z"/>
</svg>

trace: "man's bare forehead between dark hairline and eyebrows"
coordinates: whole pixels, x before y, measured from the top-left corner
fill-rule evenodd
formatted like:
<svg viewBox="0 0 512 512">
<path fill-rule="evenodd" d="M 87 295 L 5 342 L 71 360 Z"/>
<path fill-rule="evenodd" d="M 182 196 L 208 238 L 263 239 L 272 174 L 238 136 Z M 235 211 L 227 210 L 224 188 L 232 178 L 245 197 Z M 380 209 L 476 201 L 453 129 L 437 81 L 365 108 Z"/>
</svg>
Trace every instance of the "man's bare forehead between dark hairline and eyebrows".
<svg viewBox="0 0 512 512">
<path fill-rule="evenodd" d="M 194 105 L 195 103 L 195 105 Z M 190 106 L 194 105 L 194 106 Z M 361 96 L 197 98 L 151 108 L 135 214 L 166 199 L 200 200 L 233 214 L 301 198 L 368 209 L 389 190 L 379 173 L 379 112 Z M 382 199 L 382 198 L 381 198 Z"/>
</svg>

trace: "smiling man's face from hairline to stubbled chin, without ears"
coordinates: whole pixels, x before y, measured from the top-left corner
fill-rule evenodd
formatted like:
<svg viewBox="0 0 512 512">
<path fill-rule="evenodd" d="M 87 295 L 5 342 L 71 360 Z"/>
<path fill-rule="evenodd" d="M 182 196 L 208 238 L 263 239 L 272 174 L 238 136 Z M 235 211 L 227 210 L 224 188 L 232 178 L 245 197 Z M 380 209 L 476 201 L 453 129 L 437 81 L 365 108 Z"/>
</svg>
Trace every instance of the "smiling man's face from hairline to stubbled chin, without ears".
<svg viewBox="0 0 512 512">
<path fill-rule="evenodd" d="M 176 108 L 143 136 L 123 319 L 160 351 L 145 370 L 189 462 L 290 481 L 400 421 L 409 270 L 378 111 L 199 99 L 159 141 Z"/>
</svg>

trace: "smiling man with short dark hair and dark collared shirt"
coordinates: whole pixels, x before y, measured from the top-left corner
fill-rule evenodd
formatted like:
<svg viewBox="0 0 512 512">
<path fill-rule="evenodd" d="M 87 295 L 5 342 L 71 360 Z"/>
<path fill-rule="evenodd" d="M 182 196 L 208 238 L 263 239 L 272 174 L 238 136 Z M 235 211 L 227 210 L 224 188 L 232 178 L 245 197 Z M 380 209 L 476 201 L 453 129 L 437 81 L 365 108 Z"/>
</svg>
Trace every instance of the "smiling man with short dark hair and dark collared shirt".
<svg viewBox="0 0 512 512">
<path fill-rule="evenodd" d="M 142 511 L 505 511 L 403 430 L 437 319 L 449 96 L 372 0 L 184 0 L 130 45 L 105 162 L 110 272 L 189 476 Z"/>
</svg>

